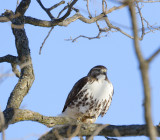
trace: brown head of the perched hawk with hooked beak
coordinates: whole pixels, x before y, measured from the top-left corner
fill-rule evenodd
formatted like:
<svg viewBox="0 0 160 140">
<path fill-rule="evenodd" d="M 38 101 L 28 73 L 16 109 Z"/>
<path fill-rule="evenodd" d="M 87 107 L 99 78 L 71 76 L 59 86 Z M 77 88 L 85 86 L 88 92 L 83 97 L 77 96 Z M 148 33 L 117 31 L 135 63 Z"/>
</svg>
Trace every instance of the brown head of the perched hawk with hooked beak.
<svg viewBox="0 0 160 140">
<path fill-rule="evenodd" d="M 107 68 L 102 66 L 102 65 L 98 65 L 93 67 L 89 73 L 88 76 L 92 76 L 94 78 L 97 78 L 100 75 L 104 75 L 106 77 L 106 72 L 107 72 Z"/>
</svg>

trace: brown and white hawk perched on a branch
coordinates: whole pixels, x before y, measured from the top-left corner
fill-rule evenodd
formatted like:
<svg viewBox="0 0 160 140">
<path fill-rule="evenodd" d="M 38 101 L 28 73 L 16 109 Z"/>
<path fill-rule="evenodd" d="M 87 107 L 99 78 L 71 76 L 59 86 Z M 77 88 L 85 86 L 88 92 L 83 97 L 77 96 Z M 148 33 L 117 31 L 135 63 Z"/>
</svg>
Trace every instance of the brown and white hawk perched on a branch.
<svg viewBox="0 0 160 140">
<path fill-rule="evenodd" d="M 80 122 L 94 123 L 107 112 L 113 96 L 113 85 L 107 78 L 107 68 L 93 67 L 70 91 L 61 116 Z"/>
</svg>

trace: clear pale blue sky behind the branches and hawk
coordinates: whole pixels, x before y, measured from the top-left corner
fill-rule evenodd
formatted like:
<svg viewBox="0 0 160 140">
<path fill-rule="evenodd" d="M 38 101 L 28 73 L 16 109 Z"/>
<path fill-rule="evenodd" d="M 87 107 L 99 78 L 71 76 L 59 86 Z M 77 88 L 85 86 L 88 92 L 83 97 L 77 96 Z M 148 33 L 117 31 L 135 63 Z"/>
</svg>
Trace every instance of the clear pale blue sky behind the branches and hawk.
<svg viewBox="0 0 160 140">
<path fill-rule="evenodd" d="M 56 1 L 55 1 L 56 2 Z M 83 2 L 84 3 L 84 2 Z M 92 6 L 100 9 L 98 0 L 91 1 Z M 51 6 L 54 1 L 46 2 Z M 115 3 L 108 3 L 112 7 Z M 87 16 L 85 5 L 80 2 L 75 6 Z M 160 3 L 145 4 L 142 12 L 150 24 L 160 26 Z M 4 9 L 15 10 L 16 0 L 1 0 L 0 13 Z M 61 7 L 62 8 L 62 7 Z M 53 13 L 57 11 L 53 11 Z M 91 11 L 94 15 L 94 12 Z M 100 11 L 97 11 L 100 12 Z M 46 13 L 36 1 L 32 1 L 26 15 L 39 19 L 49 20 Z M 131 27 L 129 11 L 127 8 L 115 11 L 108 15 L 114 25 Z M 139 19 L 139 18 L 138 18 Z M 17 55 L 11 23 L 0 23 L 0 56 L 7 54 Z M 101 21 L 101 25 L 105 23 Z M 121 27 L 121 26 L 119 26 Z M 133 40 L 119 32 L 109 32 L 107 37 L 88 40 L 80 38 L 77 42 L 66 41 L 70 37 L 79 35 L 96 36 L 95 24 L 85 24 L 81 21 L 71 23 L 67 27 L 56 26 L 47 39 L 42 54 L 39 48 L 50 28 L 25 25 L 29 39 L 33 61 L 35 81 L 24 98 L 21 108 L 30 109 L 46 116 L 60 114 L 66 97 L 74 83 L 87 75 L 88 71 L 96 65 L 104 65 L 108 69 L 108 78 L 114 85 L 114 96 L 107 114 L 99 117 L 97 123 L 112 125 L 144 124 L 143 89 L 138 61 L 133 49 Z M 131 33 L 128 28 L 122 28 Z M 145 58 L 148 58 L 160 46 L 160 32 L 147 34 L 140 42 Z M 9 71 L 11 66 L 0 63 L 0 74 Z M 160 55 L 151 63 L 149 76 L 152 91 L 152 117 L 157 125 L 160 122 Z M 8 97 L 18 79 L 15 76 L 0 81 L 0 106 L 5 109 Z M 6 130 L 7 140 L 35 140 L 49 129 L 36 122 L 19 122 L 10 125 Z M 96 139 L 99 139 L 96 138 Z M 101 138 L 105 139 L 105 138 Z M 146 137 L 119 138 L 119 140 L 147 140 Z"/>
</svg>

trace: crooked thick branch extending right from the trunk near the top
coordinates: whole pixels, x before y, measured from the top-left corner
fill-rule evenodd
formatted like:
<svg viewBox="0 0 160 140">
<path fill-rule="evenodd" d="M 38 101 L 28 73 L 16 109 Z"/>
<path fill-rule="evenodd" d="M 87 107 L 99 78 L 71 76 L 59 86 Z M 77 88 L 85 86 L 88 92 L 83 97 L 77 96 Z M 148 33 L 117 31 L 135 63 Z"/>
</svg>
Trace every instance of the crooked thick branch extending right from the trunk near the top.
<svg viewBox="0 0 160 140">
<path fill-rule="evenodd" d="M 83 15 L 81 15 L 80 13 L 76 13 L 75 15 L 73 15 L 70 18 L 67 18 L 71 12 L 71 9 L 73 8 L 73 5 L 77 2 L 77 0 L 72 1 L 72 3 L 68 6 L 68 11 L 67 13 L 59 18 L 59 19 L 55 19 L 53 21 L 45 21 L 45 20 L 40 20 L 40 19 L 36 19 L 36 18 L 32 18 L 32 17 L 24 17 L 25 19 L 25 23 L 27 24 L 31 24 L 31 25 L 35 25 L 35 26 L 41 26 L 41 27 L 53 27 L 56 25 L 59 26 L 67 26 L 69 25 L 71 22 L 76 21 L 77 19 L 81 20 L 82 22 L 91 24 L 94 23 L 100 19 L 102 19 L 104 17 L 104 13 L 96 16 L 96 17 L 92 17 L 91 19 L 85 18 Z M 112 7 L 111 9 L 109 9 L 108 11 L 105 11 L 105 14 L 109 14 L 117 9 L 121 9 L 124 8 L 126 5 L 121 5 L 118 7 Z M 64 20 L 65 18 L 67 18 L 66 20 Z M 5 16 L 0 16 L 0 22 L 7 22 L 9 21 L 8 17 Z"/>
</svg>

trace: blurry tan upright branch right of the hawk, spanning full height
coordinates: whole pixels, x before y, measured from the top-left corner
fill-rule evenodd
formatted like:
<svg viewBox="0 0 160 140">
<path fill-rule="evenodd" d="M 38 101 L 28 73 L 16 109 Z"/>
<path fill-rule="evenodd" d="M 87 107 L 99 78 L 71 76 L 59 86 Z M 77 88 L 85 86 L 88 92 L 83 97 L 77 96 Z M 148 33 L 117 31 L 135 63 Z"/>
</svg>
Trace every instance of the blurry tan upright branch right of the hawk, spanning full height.
<svg viewBox="0 0 160 140">
<path fill-rule="evenodd" d="M 148 78 L 148 63 L 143 58 L 140 45 L 139 45 L 139 39 L 138 39 L 138 30 L 137 30 L 137 21 L 136 21 L 136 12 L 135 7 L 132 1 L 128 1 L 131 19 L 132 19 L 132 26 L 133 26 L 133 32 L 134 32 L 134 49 L 139 61 L 140 65 L 140 71 L 143 81 L 143 88 L 144 88 L 144 95 L 145 95 L 145 101 L 144 101 L 144 109 L 145 109 L 145 121 L 147 124 L 147 131 L 148 135 L 151 140 L 156 140 L 156 129 L 153 126 L 152 117 L 151 117 L 151 91 L 150 91 L 150 84 L 149 84 L 149 78 Z"/>
</svg>

